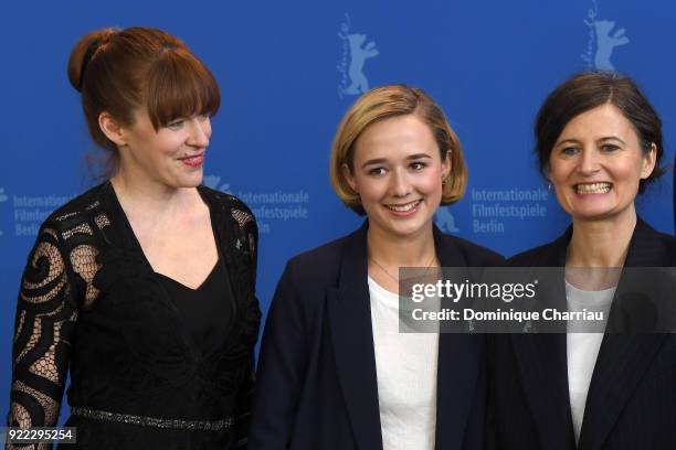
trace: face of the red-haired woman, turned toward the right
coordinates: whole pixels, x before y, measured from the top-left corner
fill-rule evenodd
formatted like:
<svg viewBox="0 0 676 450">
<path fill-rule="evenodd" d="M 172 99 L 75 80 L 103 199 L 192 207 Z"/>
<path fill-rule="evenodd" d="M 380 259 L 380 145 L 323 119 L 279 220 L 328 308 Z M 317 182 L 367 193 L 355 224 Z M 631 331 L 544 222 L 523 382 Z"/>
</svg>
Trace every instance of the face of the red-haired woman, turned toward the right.
<svg viewBox="0 0 676 450">
<path fill-rule="evenodd" d="M 125 127 L 124 133 L 123 168 L 131 165 L 134 173 L 140 171 L 171 188 L 193 188 L 202 182 L 204 152 L 211 137 L 208 116 L 177 119 L 156 131 L 148 113 L 139 109 L 134 125 Z"/>
</svg>

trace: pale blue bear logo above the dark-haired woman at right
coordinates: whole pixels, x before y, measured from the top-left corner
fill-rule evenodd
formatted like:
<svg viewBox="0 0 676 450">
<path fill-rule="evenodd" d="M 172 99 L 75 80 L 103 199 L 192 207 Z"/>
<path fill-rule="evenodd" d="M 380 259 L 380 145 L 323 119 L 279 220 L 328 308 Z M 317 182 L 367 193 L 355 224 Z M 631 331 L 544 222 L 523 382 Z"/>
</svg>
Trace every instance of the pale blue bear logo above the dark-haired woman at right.
<svg viewBox="0 0 676 450">
<path fill-rule="evenodd" d="M 611 62 L 613 51 L 627 44 L 630 40 L 624 35 L 624 29 L 615 30 L 614 21 L 598 18 L 599 4 L 596 0 L 592 0 L 592 8 L 587 11 L 587 19 L 583 20 L 589 28 L 589 39 L 582 61 L 587 63 L 588 68 L 614 71 L 615 66 Z"/>
</svg>

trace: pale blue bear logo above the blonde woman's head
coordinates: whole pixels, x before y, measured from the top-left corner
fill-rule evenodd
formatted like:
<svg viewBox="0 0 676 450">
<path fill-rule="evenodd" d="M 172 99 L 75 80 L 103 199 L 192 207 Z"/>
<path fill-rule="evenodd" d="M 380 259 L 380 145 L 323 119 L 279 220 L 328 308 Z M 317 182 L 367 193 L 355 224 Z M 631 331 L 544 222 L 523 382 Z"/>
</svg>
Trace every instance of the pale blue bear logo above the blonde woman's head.
<svg viewBox="0 0 676 450">
<path fill-rule="evenodd" d="M 346 13 L 338 38 L 342 41 L 342 55 L 336 68 L 340 73 L 338 96 L 360 95 L 369 90 L 369 79 L 363 73 L 366 61 L 378 56 L 376 42 L 365 44 L 366 34 L 350 32 L 350 17 Z M 349 78 L 349 84 L 348 84 Z"/>
</svg>

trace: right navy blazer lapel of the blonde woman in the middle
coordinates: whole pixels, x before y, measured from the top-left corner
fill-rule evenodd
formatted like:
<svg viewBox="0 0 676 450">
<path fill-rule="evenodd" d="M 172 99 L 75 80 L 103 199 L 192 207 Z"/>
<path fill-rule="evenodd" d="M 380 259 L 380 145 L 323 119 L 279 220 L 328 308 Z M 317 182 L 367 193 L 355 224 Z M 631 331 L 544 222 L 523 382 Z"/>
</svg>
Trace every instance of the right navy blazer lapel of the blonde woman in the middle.
<svg viewBox="0 0 676 450">
<path fill-rule="evenodd" d="M 458 248 L 434 227 L 434 245 L 442 267 L 465 267 Z M 437 450 L 460 449 L 467 416 L 475 400 L 476 384 L 485 361 L 483 335 L 440 333 L 436 368 Z"/>
</svg>

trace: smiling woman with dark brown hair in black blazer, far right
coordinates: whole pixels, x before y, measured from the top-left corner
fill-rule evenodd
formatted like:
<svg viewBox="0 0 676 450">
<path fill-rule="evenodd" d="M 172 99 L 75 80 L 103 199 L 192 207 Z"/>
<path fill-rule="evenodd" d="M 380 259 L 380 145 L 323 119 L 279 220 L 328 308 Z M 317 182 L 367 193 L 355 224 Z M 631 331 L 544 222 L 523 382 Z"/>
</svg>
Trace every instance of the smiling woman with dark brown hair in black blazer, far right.
<svg viewBox="0 0 676 450">
<path fill-rule="evenodd" d="M 540 169 L 572 224 L 507 265 L 563 267 L 568 309 L 598 308 L 608 322 L 604 332 L 492 339 L 496 448 L 676 448 L 676 340 L 637 326 L 649 304 L 623 310 L 622 268 L 676 266 L 676 239 L 634 207 L 664 172 L 662 121 L 630 78 L 583 73 L 545 100 L 535 136 Z"/>
</svg>

